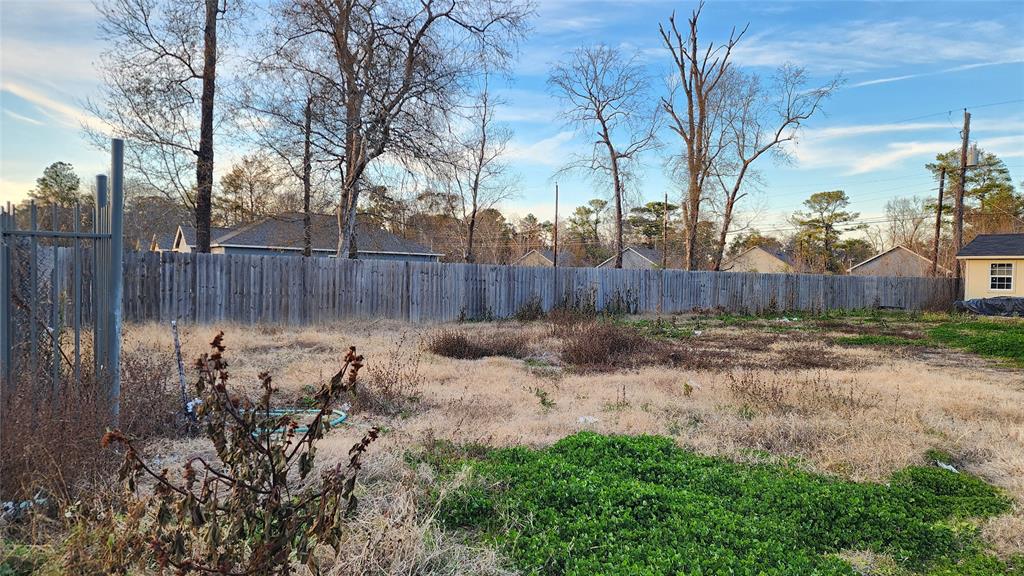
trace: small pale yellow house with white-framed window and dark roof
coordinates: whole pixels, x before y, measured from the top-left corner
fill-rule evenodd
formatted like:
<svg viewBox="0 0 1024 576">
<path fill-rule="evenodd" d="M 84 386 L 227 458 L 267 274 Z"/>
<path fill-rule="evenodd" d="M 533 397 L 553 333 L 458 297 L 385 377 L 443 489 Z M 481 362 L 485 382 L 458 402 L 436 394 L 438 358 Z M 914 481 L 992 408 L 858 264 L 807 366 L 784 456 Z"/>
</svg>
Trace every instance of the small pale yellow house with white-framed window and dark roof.
<svg viewBox="0 0 1024 576">
<path fill-rule="evenodd" d="M 1024 234 L 982 234 L 961 248 L 964 299 L 1024 298 Z"/>
</svg>

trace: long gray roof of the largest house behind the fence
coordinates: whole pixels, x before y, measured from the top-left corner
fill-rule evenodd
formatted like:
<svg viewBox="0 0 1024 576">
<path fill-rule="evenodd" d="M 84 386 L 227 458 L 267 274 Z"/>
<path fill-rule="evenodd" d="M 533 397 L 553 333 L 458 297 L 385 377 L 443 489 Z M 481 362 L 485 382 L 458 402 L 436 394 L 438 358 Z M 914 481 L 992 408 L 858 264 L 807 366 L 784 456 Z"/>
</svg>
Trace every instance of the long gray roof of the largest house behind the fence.
<svg viewBox="0 0 1024 576">
<path fill-rule="evenodd" d="M 338 249 L 338 220 L 333 214 L 310 214 L 313 250 L 334 252 Z M 286 212 L 239 227 L 216 239 L 219 246 L 257 246 L 269 249 L 301 249 L 303 244 L 302 212 Z M 427 247 L 406 240 L 371 222 L 358 219 L 355 245 L 360 253 L 440 255 Z"/>
</svg>

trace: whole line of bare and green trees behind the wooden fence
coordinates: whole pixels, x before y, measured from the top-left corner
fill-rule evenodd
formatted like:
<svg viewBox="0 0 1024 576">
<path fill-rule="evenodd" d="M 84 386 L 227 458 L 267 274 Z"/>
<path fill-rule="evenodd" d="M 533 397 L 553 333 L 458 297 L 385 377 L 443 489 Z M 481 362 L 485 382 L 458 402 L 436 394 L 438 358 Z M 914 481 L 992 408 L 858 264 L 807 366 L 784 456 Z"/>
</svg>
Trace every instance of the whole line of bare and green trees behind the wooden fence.
<svg viewBox="0 0 1024 576">
<path fill-rule="evenodd" d="M 130 203 L 193 219 L 198 249 L 209 249 L 211 225 L 281 211 L 307 215 L 306 254 L 308 215 L 328 211 L 337 217 L 337 253 L 349 257 L 357 214 L 458 261 L 507 261 L 552 244 L 551 222 L 512 221 L 497 210 L 517 190 L 505 160 L 512 133 L 497 119 L 504 102 L 494 86 L 528 34 L 528 0 L 97 6 L 108 49 L 97 65 L 101 95 L 88 102 L 102 129 L 89 136 L 129 141 L 137 175 Z M 743 214 L 761 182 L 758 166 L 792 160 L 800 129 L 842 80 L 814 85 L 792 64 L 767 77 L 739 68 L 733 54 L 748 29 L 709 40 L 702 7 L 658 24 L 671 71 L 660 89 L 622 46 L 581 46 L 552 65 L 548 85 L 562 120 L 592 142 L 561 171 L 591 176 L 598 197 L 561 222 L 562 247 L 579 261 L 610 257 L 618 266 L 624 247 L 643 244 L 667 250 L 678 268 L 720 270 L 738 246 L 765 239 L 809 270 L 839 272 L 883 240 L 924 244 L 922 214 L 934 214 L 934 202 L 891 202 L 890 220 L 899 216 L 903 228 L 883 233 L 859 222 L 840 191 L 813 195 L 787 230 L 750 230 Z M 215 159 L 240 150 L 248 152 L 216 182 Z M 640 163 L 655 153 L 674 190 L 637 205 Z M 928 168 L 955 162 L 949 153 Z M 1009 175 L 990 172 L 969 173 L 979 191 L 968 194 L 976 232 L 1016 225 L 1021 215 Z M 849 232 L 863 238 L 842 238 Z"/>
</svg>

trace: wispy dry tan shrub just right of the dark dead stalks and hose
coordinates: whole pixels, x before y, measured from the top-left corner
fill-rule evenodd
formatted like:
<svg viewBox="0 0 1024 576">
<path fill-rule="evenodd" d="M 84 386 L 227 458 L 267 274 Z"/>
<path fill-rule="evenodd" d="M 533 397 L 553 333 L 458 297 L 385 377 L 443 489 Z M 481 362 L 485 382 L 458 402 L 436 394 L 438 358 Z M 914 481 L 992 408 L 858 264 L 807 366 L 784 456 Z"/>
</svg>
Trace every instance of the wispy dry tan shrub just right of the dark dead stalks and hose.
<svg viewBox="0 0 1024 576">
<path fill-rule="evenodd" d="M 367 379 L 355 386 L 352 405 L 359 411 L 385 416 L 411 412 L 420 402 L 426 376 L 420 372 L 422 352 L 402 332 L 383 362 L 367 368 Z"/>
</svg>

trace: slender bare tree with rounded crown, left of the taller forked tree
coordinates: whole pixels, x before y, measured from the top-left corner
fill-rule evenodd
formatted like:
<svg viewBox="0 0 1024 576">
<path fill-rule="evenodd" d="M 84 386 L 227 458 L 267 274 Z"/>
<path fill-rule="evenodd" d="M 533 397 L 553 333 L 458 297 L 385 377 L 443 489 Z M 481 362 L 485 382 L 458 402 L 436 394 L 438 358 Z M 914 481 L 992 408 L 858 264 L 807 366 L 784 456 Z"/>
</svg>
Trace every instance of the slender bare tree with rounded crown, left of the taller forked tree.
<svg viewBox="0 0 1024 576">
<path fill-rule="evenodd" d="M 623 196 L 639 156 L 657 145 L 657 116 L 648 106 L 648 81 L 636 56 L 603 44 L 579 48 L 555 65 L 548 84 L 564 101 L 577 131 L 593 136 L 590 154 L 563 169 L 584 169 L 611 179 L 614 196 L 614 266 L 623 268 Z"/>
</svg>

